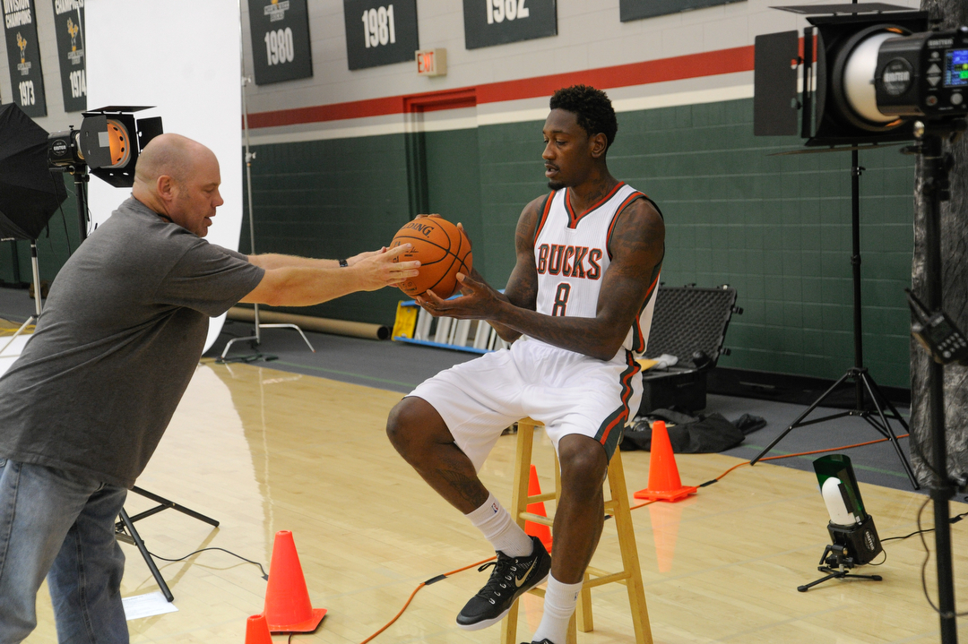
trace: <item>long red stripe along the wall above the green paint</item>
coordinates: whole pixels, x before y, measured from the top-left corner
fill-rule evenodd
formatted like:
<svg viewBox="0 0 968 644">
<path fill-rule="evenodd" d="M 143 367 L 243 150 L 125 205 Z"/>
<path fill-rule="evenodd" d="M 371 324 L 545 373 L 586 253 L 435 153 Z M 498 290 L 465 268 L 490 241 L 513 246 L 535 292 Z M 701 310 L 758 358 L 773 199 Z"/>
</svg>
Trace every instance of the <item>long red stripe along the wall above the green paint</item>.
<svg viewBox="0 0 968 644">
<path fill-rule="evenodd" d="M 547 76 L 523 78 L 520 80 L 505 80 L 496 83 L 477 85 L 476 87 L 445 90 L 444 95 L 476 95 L 476 102 L 517 101 L 520 99 L 534 99 L 550 97 L 561 87 L 584 83 L 605 89 L 628 87 L 630 85 L 645 85 L 668 80 L 683 78 L 699 78 L 720 73 L 750 72 L 753 69 L 753 45 L 720 49 L 718 51 L 704 51 L 702 53 L 660 58 L 641 63 L 629 63 L 615 67 L 603 67 L 584 72 L 555 73 Z M 256 112 L 249 114 L 250 128 L 272 128 L 278 126 L 297 125 L 301 123 L 321 123 L 325 121 L 340 121 L 367 116 L 385 116 L 387 114 L 402 114 L 408 106 L 416 103 L 433 102 L 436 93 L 417 94 L 408 96 L 393 96 L 365 101 L 335 102 L 327 105 L 312 107 L 296 107 L 293 109 L 279 109 L 270 112 Z M 455 97 L 456 98 L 456 97 Z M 447 101 L 444 101 L 446 103 Z M 429 105 L 428 105 L 429 106 Z M 463 105 L 462 105 L 463 106 Z M 446 107 L 439 107 L 446 108 Z M 433 109 L 431 107 L 430 109 Z M 428 109 L 427 111 L 430 111 Z"/>
</svg>

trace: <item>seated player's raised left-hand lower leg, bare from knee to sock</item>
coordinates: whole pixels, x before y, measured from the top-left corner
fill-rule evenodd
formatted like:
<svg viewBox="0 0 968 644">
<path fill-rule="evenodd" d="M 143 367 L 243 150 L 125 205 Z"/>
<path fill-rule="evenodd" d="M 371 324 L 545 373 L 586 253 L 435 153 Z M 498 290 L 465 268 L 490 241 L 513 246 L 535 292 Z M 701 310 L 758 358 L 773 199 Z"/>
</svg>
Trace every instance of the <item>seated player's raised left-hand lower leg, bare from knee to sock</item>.
<svg viewBox="0 0 968 644">
<path fill-rule="evenodd" d="M 473 463 L 454 444 L 437 410 L 418 397 L 401 400 L 386 422 L 390 443 L 450 505 L 468 514 L 489 496 Z"/>
</svg>

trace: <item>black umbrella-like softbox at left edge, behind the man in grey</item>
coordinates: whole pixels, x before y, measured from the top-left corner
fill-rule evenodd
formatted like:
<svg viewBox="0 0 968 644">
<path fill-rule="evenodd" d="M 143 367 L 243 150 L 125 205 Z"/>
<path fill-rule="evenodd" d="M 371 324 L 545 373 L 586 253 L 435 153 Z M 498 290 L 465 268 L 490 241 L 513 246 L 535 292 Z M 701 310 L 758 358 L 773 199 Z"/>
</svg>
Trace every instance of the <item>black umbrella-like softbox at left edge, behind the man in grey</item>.
<svg viewBox="0 0 968 644">
<path fill-rule="evenodd" d="M 67 198 L 47 168 L 47 132 L 16 103 L 0 105 L 0 238 L 36 240 Z"/>
</svg>

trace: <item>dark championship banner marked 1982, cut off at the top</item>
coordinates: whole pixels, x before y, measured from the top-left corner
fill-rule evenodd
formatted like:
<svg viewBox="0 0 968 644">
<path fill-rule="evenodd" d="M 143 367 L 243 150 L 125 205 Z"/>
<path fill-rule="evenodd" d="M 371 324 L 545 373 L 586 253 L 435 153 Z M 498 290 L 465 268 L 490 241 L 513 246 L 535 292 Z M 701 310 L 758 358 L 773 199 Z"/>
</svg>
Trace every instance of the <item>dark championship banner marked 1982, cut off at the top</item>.
<svg viewBox="0 0 968 644">
<path fill-rule="evenodd" d="M 557 35 L 556 0 L 464 0 L 469 49 Z"/>
</svg>

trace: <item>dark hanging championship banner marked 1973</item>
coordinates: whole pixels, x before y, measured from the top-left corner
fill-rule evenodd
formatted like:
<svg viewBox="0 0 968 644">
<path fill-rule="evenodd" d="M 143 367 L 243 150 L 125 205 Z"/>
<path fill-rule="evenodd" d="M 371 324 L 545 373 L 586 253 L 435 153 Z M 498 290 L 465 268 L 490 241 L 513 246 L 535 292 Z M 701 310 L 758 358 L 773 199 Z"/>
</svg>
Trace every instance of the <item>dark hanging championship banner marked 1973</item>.
<svg viewBox="0 0 968 644">
<path fill-rule="evenodd" d="M 27 116 L 46 116 L 37 13 L 33 0 L 3 0 L 3 27 L 14 101 Z"/>
</svg>

